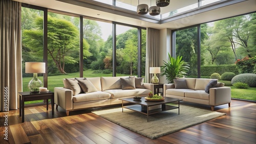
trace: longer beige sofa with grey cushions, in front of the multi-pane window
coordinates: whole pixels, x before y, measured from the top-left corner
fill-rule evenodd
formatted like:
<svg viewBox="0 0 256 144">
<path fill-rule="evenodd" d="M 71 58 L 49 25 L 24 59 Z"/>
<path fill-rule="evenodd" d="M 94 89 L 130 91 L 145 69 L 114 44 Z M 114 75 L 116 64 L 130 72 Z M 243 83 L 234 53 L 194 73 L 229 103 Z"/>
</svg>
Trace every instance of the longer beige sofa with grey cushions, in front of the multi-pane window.
<svg viewBox="0 0 256 144">
<path fill-rule="evenodd" d="M 67 81 L 75 81 L 75 79 L 77 80 L 76 83 L 78 83 L 78 80 L 84 80 L 84 78 L 63 79 L 64 87 L 54 88 L 54 102 L 56 104 L 56 109 L 60 106 L 65 109 L 67 115 L 69 115 L 69 111 L 121 104 L 122 101 L 118 100 L 119 98 L 132 98 L 136 95 L 143 97 L 151 91 L 154 92 L 154 84 L 143 83 L 141 82 L 141 78 L 135 78 L 135 89 L 130 89 L 130 87 L 125 89 L 122 85 L 123 83 L 121 83 L 121 78 L 126 80 L 130 77 L 86 78 L 90 81 L 89 83 L 93 84 L 93 89 L 96 88 L 93 92 L 88 89 L 88 92 L 86 93 L 84 93 L 82 89 L 79 90 L 79 92 L 74 91 L 74 89 L 71 90 L 69 87 L 70 85 L 68 85 L 69 83 L 67 83 Z M 76 94 L 74 94 L 74 92 Z"/>
</svg>

